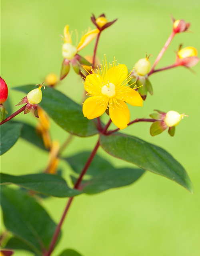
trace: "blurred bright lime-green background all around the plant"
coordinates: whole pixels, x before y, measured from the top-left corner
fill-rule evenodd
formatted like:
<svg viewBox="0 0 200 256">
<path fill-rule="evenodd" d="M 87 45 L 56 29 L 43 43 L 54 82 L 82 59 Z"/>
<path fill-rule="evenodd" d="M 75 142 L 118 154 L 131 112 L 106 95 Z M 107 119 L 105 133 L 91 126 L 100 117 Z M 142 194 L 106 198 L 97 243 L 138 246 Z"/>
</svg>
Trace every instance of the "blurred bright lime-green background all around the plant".
<svg viewBox="0 0 200 256">
<path fill-rule="evenodd" d="M 1 76 L 10 88 L 9 97 L 16 105 L 23 94 L 11 90 L 24 84 L 38 84 L 49 72 L 60 73 L 62 54 L 60 34 L 66 24 L 83 30 L 93 24 L 91 13 L 104 12 L 108 20 L 118 18 L 100 38 L 98 57 L 104 54 L 109 61 L 129 68 L 146 52 L 153 62 L 168 38 L 172 24 L 170 14 L 191 22 L 192 33 L 175 37 L 158 67 L 172 64 L 174 50 L 183 43 L 200 50 L 200 2 L 198 0 L 2 0 L 2 58 Z M 73 37 L 76 41 L 75 36 Z M 82 55 L 92 54 L 94 42 Z M 187 170 L 193 184 L 191 195 L 181 186 L 161 176 L 147 172 L 134 186 L 113 189 L 95 196 L 78 196 L 62 227 L 63 235 L 53 255 L 66 248 L 74 248 L 84 256 L 198 256 L 200 252 L 200 132 L 199 132 L 199 64 L 197 74 L 176 68 L 152 75 L 154 95 L 148 95 L 143 108 L 131 108 L 131 118 L 148 118 L 153 109 L 176 110 L 186 113 L 171 138 L 167 132 L 152 138 L 150 124 L 139 123 L 124 132 L 162 146 Z M 58 86 L 76 102 L 82 97 L 82 82 L 70 74 Z M 43 91 L 45 93 L 45 91 Z M 13 107 L 13 111 L 16 110 Z M 16 118 L 36 124 L 32 115 Z M 114 126 L 113 126 L 114 127 Z M 62 142 L 68 134 L 52 121 L 52 136 Z M 78 138 L 65 150 L 71 155 L 94 147 L 97 137 Z M 106 155 L 115 166 L 130 164 Z M 1 170 L 9 174 L 28 174 L 44 170 L 48 154 L 22 139 L 1 158 Z M 64 176 L 70 170 L 60 162 Z M 42 202 L 52 218 L 58 222 L 66 199 L 51 198 Z M 3 226 L 3 225 L 2 225 Z M 17 252 L 16 256 L 29 256 Z"/>
</svg>

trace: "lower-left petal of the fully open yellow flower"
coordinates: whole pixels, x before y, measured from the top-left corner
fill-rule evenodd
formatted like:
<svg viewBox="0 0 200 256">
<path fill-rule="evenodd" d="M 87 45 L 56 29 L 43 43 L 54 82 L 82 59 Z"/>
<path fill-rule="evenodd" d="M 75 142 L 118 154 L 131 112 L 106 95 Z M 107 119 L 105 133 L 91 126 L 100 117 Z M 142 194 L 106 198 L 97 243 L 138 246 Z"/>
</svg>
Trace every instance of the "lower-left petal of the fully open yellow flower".
<svg viewBox="0 0 200 256">
<path fill-rule="evenodd" d="M 101 116 L 108 106 L 108 98 L 102 96 L 92 96 L 85 100 L 83 104 L 83 114 L 88 119 Z"/>
</svg>

